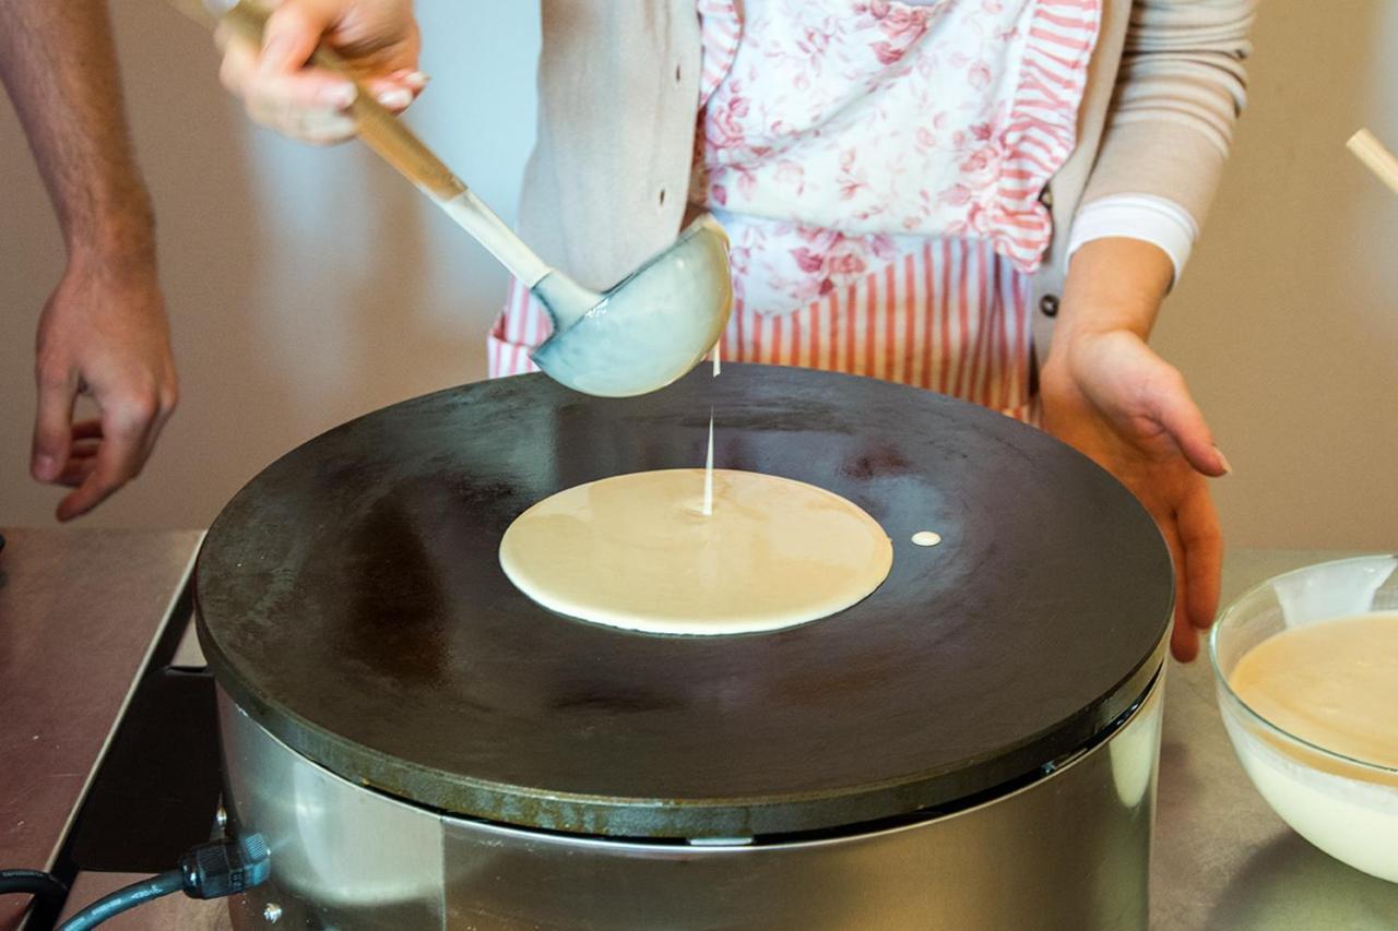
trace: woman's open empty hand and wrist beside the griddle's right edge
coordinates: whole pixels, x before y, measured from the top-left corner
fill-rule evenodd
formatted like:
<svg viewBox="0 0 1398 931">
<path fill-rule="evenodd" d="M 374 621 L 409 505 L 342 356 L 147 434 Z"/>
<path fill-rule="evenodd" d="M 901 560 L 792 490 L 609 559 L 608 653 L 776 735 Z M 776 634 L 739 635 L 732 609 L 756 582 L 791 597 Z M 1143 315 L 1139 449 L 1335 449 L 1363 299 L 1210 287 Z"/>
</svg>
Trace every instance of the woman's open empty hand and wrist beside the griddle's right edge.
<svg viewBox="0 0 1398 931">
<path fill-rule="evenodd" d="M 1040 398 L 1044 429 L 1116 475 L 1159 524 L 1176 566 L 1170 649 L 1188 661 L 1199 630 L 1213 622 L 1223 559 L 1205 477 L 1229 466 L 1184 377 L 1145 342 L 1172 271 L 1165 253 L 1145 242 L 1082 246 Z"/>
</svg>

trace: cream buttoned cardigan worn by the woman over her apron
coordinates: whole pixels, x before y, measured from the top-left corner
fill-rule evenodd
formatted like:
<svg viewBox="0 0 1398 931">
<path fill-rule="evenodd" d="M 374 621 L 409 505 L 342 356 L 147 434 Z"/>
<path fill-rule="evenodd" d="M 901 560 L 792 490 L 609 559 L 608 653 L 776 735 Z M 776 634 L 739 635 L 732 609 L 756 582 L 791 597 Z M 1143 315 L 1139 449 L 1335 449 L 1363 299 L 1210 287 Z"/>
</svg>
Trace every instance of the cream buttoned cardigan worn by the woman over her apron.
<svg viewBox="0 0 1398 931">
<path fill-rule="evenodd" d="M 1202 224 L 1244 102 L 1255 0 L 1102 3 L 1078 145 L 1044 194 L 1054 238 L 1035 275 L 1040 358 L 1078 208 L 1155 194 Z M 695 0 L 542 0 L 520 232 L 584 285 L 615 284 L 685 219 L 700 42 Z"/>
</svg>

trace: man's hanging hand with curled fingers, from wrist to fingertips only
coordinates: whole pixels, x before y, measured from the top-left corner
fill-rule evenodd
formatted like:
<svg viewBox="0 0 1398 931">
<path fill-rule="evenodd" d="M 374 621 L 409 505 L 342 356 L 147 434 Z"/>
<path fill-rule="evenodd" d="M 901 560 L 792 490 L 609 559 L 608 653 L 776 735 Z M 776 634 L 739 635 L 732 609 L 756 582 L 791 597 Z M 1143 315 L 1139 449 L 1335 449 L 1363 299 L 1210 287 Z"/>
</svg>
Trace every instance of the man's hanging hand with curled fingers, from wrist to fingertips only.
<svg viewBox="0 0 1398 931">
<path fill-rule="evenodd" d="M 175 410 L 175 359 L 154 261 L 75 253 L 39 317 L 39 410 L 31 471 L 74 488 L 70 520 L 102 503 L 145 464 Z M 73 422 L 78 394 L 99 419 Z"/>
</svg>

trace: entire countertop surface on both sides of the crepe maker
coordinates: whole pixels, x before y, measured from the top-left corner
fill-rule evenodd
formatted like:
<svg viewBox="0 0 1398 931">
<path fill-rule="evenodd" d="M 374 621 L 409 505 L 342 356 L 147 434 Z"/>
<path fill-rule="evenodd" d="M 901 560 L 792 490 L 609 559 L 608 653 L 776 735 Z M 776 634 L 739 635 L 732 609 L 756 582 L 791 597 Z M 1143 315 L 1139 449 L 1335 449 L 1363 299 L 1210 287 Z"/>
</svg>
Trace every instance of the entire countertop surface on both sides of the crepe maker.
<svg viewBox="0 0 1398 931">
<path fill-rule="evenodd" d="M 0 867 L 46 867 L 185 583 L 200 534 L 4 533 Z M 1225 602 L 1272 575 L 1341 555 L 1232 552 Z M 1206 657 L 1172 663 L 1167 674 L 1151 878 L 1153 931 L 1398 928 L 1398 885 L 1311 847 L 1248 783 L 1219 720 Z M 126 879 L 84 874 L 74 903 L 87 904 Z M 0 899 L 0 930 L 15 927 L 17 899 Z M 144 906 L 123 927 L 225 927 L 225 916 L 221 903 L 175 896 Z"/>
</svg>

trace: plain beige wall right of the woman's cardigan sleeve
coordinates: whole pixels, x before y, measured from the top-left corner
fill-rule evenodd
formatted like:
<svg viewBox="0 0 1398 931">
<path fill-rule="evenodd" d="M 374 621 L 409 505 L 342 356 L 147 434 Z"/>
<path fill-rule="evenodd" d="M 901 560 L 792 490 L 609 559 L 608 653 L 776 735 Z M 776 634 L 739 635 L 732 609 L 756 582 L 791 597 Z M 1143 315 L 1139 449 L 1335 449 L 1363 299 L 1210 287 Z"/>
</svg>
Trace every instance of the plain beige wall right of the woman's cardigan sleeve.
<svg viewBox="0 0 1398 931">
<path fill-rule="evenodd" d="M 1398 4 L 1262 3 L 1251 105 L 1156 330 L 1234 474 L 1230 544 L 1398 545 L 1398 197 L 1343 148 L 1398 148 Z"/>
</svg>

